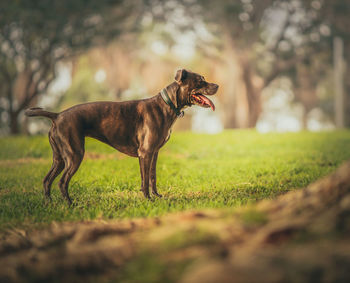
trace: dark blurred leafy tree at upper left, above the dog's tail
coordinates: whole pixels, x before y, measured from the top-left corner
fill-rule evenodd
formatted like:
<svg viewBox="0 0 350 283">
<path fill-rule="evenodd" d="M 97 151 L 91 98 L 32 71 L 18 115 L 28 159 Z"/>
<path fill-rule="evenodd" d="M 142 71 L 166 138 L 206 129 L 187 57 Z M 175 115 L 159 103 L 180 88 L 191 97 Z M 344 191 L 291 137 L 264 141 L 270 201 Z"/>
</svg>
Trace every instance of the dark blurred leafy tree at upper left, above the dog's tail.
<svg viewBox="0 0 350 283">
<path fill-rule="evenodd" d="M 143 8 L 137 4 L 140 1 L 0 2 L 0 110 L 12 134 L 20 130 L 21 112 L 55 78 L 55 64 L 135 30 Z"/>
</svg>

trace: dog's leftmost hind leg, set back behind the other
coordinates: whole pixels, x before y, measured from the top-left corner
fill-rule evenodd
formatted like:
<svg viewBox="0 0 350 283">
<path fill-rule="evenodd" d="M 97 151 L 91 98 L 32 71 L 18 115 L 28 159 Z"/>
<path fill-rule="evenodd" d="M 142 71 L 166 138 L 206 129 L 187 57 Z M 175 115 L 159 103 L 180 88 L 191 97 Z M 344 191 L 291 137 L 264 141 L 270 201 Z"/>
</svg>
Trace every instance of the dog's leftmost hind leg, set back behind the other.
<svg viewBox="0 0 350 283">
<path fill-rule="evenodd" d="M 51 200 L 51 185 L 55 178 L 62 172 L 64 161 L 54 138 L 54 128 L 49 133 L 49 141 L 52 148 L 52 166 L 43 180 L 44 194 L 47 200 Z"/>
</svg>

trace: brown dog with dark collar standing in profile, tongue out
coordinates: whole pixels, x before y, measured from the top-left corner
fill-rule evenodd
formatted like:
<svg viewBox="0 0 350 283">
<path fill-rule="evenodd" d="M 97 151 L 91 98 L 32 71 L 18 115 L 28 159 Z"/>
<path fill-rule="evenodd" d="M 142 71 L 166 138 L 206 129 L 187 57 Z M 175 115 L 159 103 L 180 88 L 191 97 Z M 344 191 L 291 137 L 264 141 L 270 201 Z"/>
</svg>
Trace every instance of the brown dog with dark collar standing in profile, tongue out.
<svg viewBox="0 0 350 283">
<path fill-rule="evenodd" d="M 45 196 L 50 199 L 54 179 L 63 171 L 59 181 L 62 196 L 69 204 L 68 184 L 84 157 L 85 136 L 98 139 L 130 156 L 138 157 L 141 190 L 150 198 L 149 185 L 158 197 L 156 163 L 159 149 L 168 141 L 171 127 L 183 108 L 193 104 L 211 107 L 205 95 L 213 95 L 218 85 L 208 83 L 203 76 L 178 70 L 175 82 L 148 99 L 125 102 L 92 102 L 73 106 L 61 113 L 42 108 L 30 108 L 27 116 L 44 116 L 52 120 L 49 141 L 53 163 L 43 180 Z"/>
</svg>

